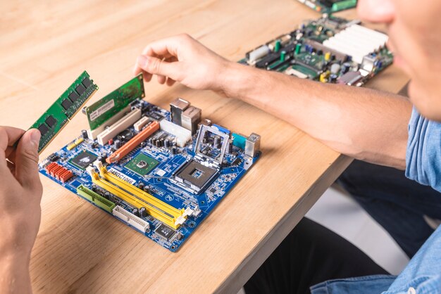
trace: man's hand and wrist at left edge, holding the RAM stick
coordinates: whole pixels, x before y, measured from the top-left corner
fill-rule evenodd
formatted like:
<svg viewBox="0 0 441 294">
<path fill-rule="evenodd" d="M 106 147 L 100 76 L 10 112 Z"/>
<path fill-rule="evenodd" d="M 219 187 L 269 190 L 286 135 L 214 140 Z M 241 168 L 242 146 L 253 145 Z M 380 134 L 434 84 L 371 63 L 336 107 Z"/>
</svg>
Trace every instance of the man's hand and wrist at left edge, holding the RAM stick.
<svg viewBox="0 0 441 294">
<path fill-rule="evenodd" d="M 43 193 L 37 164 L 39 138 L 37 129 L 0 127 L 0 293 L 32 292 L 29 262 Z"/>
</svg>

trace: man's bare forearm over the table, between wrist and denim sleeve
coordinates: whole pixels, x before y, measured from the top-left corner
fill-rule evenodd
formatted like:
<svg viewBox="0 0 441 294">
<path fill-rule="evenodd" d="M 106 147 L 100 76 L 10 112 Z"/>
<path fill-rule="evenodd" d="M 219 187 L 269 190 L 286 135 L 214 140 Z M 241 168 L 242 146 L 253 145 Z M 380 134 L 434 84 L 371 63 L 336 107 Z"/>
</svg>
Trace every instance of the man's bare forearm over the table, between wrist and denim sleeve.
<svg viewBox="0 0 441 294">
<path fill-rule="evenodd" d="M 371 89 L 322 84 L 231 64 L 224 89 L 335 151 L 404 169 L 411 103 Z"/>
</svg>

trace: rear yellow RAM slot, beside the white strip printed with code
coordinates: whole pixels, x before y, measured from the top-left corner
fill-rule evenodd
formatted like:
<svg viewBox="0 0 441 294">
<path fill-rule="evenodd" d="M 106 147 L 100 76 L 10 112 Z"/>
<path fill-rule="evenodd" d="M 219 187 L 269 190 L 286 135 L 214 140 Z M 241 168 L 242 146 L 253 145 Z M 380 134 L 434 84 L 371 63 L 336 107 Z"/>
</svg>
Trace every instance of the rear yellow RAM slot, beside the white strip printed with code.
<svg viewBox="0 0 441 294">
<path fill-rule="evenodd" d="M 111 172 L 107 172 L 106 167 L 101 167 L 100 174 L 101 177 L 104 177 L 104 179 L 106 179 L 107 181 L 110 181 L 113 184 L 116 184 L 121 188 L 124 188 L 126 191 L 132 193 L 138 198 L 141 198 L 147 203 L 153 205 L 154 207 L 159 208 L 163 212 L 166 212 L 169 215 L 173 215 L 173 217 L 175 218 L 182 216 L 185 212 L 184 208 L 178 209 L 171 205 L 168 205 L 167 203 L 164 203 L 163 201 L 150 195 L 149 193 L 142 191 L 141 189 L 133 186 L 132 184 L 129 184 L 128 182 L 124 181 L 123 179 L 120 179 L 119 177 L 116 177 L 115 174 L 112 174 Z"/>
</svg>

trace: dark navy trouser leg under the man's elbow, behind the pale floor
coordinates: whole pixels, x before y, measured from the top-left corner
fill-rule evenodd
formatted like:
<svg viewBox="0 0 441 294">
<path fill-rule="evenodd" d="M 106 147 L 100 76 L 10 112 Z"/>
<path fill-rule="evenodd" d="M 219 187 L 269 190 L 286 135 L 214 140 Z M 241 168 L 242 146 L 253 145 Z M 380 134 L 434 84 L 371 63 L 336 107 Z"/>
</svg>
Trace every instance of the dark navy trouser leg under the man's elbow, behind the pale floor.
<svg viewBox="0 0 441 294">
<path fill-rule="evenodd" d="M 441 193 L 404 176 L 404 171 L 354 160 L 337 180 L 397 241 L 409 257 L 433 229 L 423 215 L 441 219 Z"/>
</svg>

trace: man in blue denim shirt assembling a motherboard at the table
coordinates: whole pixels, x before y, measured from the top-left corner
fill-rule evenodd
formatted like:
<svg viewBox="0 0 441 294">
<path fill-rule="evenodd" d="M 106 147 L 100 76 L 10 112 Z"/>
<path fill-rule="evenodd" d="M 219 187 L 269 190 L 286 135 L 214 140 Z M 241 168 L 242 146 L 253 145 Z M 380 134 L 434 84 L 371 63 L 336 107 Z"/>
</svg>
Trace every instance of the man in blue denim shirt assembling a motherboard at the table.
<svg viewBox="0 0 441 294">
<path fill-rule="evenodd" d="M 411 102 L 424 116 L 441 120 L 441 99 L 437 97 L 441 89 L 438 82 L 441 77 L 441 57 L 438 54 L 441 37 L 438 37 L 437 30 L 441 28 L 437 20 L 441 3 L 437 0 L 418 3 L 361 0 L 359 13 L 365 20 L 388 25 L 390 48 L 395 51 L 396 63 L 412 79 Z M 400 96 L 321 84 L 249 68 L 225 60 L 185 34 L 149 44 L 137 60 L 135 73 L 138 72 L 144 72 L 147 82 L 156 75 L 161 84 L 170 86 L 180 82 L 194 89 L 211 89 L 227 97 L 240 98 L 287 120 L 340 153 L 406 169 L 406 175 L 411 179 L 441 190 L 441 180 L 437 180 L 441 168 L 441 148 L 438 147 L 441 125 L 423 118 L 417 110 L 412 110 L 411 102 Z M 30 143 L 33 133 L 28 132 L 12 154 L 8 146 L 18 139 L 20 131 L 3 129 L 1 132 L 4 134 L 0 146 L 0 179 L 7 177 L 7 180 L 1 185 L 0 198 L 13 207 L 15 197 L 11 197 L 11 193 L 26 200 L 32 198 L 31 203 L 23 203 L 26 207 L 20 209 L 28 213 L 38 212 L 38 217 L 28 220 L 29 217 L 20 210 L 15 210 L 15 214 L 14 210 L 5 210 L 6 215 L 9 213 L 6 221 L 1 218 L 2 226 L 10 231 L 7 234 L 10 238 L 0 243 L 2 249 L 7 249 L 1 252 L 8 253 L 0 257 L 4 259 L 0 287 L 1 290 L 25 292 L 30 290 L 30 285 L 27 271 L 26 274 L 23 271 L 27 269 L 37 231 L 35 224 L 39 222 L 41 186 L 31 192 L 20 170 L 28 167 L 33 174 L 29 181 L 37 187 L 36 148 Z M 29 150 L 34 152 L 23 152 L 28 150 L 25 146 L 33 146 Z M 7 169 L 13 166 L 6 158 L 15 162 L 15 170 Z M 23 165 L 23 162 L 27 164 Z M 10 183 L 13 183 L 13 190 L 8 188 Z M 16 222 L 24 224 L 20 228 L 27 230 L 25 234 L 29 234 L 29 238 L 16 233 Z M 387 275 L 347 241 L 304 219 L 245 288 L 250 293 L 304 293 L 311 286 L 315 294 L 380 293 L 383 290 L 387 290 L 385 293 L 437 293 L 441 288 L 440 252 L 441 229 L 437 229 L 396 278 Z M 366 276 L 371 274 L 375 276 Z M 359 277 L 342 279 L 354 276 Z"/>
</svg>

